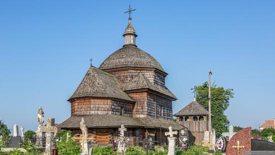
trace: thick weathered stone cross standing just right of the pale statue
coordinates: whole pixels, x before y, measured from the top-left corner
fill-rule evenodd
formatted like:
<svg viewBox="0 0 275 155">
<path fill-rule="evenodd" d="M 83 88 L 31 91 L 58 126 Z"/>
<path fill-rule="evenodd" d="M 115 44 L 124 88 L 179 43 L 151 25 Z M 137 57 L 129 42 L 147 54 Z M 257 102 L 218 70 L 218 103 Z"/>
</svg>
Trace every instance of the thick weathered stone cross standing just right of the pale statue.
<svg viewBox="0 0 275 155">
<path fill-rule="evenodd" d="M 44 155 L 50 155 L 53 149 L 54 134 L 57 133 L 57 127 L 54 126 L 54 118 L 47 118 L 46 126 L 40 126 L 40 131 L 46 135 Z"/>
</svg>

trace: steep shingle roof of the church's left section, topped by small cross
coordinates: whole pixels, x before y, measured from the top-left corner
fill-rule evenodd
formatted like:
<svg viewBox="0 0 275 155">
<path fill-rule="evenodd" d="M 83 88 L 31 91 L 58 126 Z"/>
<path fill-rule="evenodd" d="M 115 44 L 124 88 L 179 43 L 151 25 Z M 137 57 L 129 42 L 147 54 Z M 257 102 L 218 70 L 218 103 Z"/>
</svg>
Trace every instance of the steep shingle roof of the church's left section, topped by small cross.
<svg viewBox="0 0 275 155">
<path fill-rule="evenodd" d="M 90 67 L 83 80 L 68 99 L 80 97 L 117 98 L 134 102 L 121 88 L 117 79 L 95 67 Z"/>
</svg>

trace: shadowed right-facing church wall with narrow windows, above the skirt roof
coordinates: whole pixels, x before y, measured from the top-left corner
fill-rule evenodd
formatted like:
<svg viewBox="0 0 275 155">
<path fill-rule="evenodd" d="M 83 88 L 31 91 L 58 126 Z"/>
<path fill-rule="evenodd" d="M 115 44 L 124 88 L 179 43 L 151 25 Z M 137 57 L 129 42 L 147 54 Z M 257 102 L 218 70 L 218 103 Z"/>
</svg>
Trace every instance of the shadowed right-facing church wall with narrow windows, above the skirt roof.
<svg viewBox="0 0 275 155">
<path fill-rule="evenodd" d="M 150 118 L 157 118 L 163 120 L 172 120 L 173 118 L 171 100 L 168 100 L 155 94 L 148 93 L 147 107 L 147 116 Z"/>
</svg>

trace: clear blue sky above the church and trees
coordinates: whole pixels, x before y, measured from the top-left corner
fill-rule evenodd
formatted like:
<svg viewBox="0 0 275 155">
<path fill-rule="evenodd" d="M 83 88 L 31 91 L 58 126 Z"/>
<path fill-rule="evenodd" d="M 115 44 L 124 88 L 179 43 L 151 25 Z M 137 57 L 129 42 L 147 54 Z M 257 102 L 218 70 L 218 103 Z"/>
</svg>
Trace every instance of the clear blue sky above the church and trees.
<svg viewBox="0 0 275 155">
<path fill-rule="evenodd" d="M 123 45 L 129 3 L 137 46 L 169 74 L 173 113 L 207 81 L 234 89 L 231 124 L 257 128 L 275 118 L 275 1 L 0 1 L 0 119 L 12 128 L 70 116 L 89 68 Z"/>
</svg>

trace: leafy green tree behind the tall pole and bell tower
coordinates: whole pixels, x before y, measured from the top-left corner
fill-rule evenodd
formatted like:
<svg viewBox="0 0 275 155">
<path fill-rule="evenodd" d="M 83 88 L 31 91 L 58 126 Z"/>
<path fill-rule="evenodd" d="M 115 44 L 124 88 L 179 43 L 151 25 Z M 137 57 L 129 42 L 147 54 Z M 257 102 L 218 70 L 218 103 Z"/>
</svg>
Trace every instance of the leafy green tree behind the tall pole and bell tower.
<svg viewBox="0 0 275 155">
<path fill-rule="evenodd" d="M 196 94 L 196 101 L 208 110 L 208 82 L 192 88 Z M 233 89 L 224 89 L 223 87 L 211 86 L 211 113 L 212 127 L 216 130 L 217 137 L 227 130 L 229 120 L 224 111 L 229 106 L 230 98 L 233 98 Z"/>
</svg>

